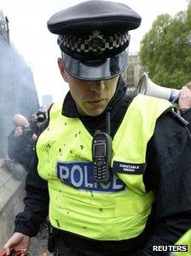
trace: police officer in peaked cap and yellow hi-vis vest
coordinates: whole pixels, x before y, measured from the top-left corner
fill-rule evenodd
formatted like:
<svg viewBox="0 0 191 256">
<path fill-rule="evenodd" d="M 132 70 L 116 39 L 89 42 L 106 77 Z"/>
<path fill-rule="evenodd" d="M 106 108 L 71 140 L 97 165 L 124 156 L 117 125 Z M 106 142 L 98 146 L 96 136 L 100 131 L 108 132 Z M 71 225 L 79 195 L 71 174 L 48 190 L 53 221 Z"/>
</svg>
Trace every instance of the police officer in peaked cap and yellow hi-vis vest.
<svg viewBox="0 0 191 256">
<path fill-rule="evenodd" d="M 54 255 L 165 255 L 153 245 L 191 226 L 188 131 L 168 101 L 125 92 L 128 32 L 140 23 L 128 6 L 97 0 L 49 19 L 70 92 L 49 110 L 6 253 L 27 251 L 48 214 Z"/>
</svg>

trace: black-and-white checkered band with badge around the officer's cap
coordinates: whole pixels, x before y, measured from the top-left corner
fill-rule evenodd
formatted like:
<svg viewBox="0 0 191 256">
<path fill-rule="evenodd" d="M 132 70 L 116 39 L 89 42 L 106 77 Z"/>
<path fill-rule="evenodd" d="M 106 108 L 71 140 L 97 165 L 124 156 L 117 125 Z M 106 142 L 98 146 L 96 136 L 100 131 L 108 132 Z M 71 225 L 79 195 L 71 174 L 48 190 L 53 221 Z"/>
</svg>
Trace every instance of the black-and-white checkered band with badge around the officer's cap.
<svg viewBox="0 0 191 256">
<path fill-rule="evenodd" d="M 92 40 L 98 39 L 98 44 L 92 44 Z M 73 35 L 60 35 L 58 37 L 58 45 L 67 47 L 69 50 L 78 53 L 94 53 L 99 54 L 104 51 L 111 51 L 124 45 L 130 40 L 128 32 L 114 33 L 108 37 L 101 35 L 99 31 L 95 31 L 89 38 L 79 38 Z"/>
</svg>

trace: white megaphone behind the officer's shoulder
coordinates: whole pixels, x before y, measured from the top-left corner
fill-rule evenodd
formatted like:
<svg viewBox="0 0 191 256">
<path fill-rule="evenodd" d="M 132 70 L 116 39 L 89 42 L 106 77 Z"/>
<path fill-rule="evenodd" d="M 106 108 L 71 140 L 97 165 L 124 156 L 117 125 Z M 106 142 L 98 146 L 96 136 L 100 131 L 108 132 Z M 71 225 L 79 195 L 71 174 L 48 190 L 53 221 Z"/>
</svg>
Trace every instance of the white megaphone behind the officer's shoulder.
<svg viewBox="0 0 191 256">
<path fill-rule="evenodd" d="M 177 103 L 180 90 L 158 86 L 149 79 L 147 73 L 143 73 L 136 87 L 136 93 L 142 93 L 156 98 L 165 98 L 171 103 Z"/>
</svg>

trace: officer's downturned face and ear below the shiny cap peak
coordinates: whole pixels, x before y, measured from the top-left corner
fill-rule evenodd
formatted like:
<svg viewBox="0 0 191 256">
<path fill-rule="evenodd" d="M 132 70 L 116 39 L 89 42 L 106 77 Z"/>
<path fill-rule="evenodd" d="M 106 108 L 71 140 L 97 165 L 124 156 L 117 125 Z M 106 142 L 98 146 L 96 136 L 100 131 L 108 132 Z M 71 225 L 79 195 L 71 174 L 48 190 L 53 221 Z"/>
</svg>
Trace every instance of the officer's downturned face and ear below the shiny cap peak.
<svg viewBox="0 0 191 256">
<path fill-rule="evenodd" d="M 116 91 L 119 76 L 108 80 L 79 80 L 67 73 L 62 60 L 58 61 L 61 75 L 69 84 L 79 114 L 98 116 L 107 107 Z"/>
</svg>

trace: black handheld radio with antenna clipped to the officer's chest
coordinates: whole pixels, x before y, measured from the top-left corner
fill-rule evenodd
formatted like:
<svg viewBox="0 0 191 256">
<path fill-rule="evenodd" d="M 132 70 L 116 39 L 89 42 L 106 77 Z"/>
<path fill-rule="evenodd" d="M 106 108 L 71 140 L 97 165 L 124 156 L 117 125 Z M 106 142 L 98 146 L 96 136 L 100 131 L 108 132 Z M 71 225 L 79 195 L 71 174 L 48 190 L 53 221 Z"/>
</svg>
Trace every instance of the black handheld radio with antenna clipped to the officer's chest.
<svg viewBox="0 0 191 256">
<path fill-rule="evenodd" d="M 110 116 L 107 113 L 107 133 L 96 131 L 92 140 L 92 163 L 94 179 L 97 183 L 107 183 L 110 179 L 112 158 L 112 138 L 110 133 Z"/>
</svg>

